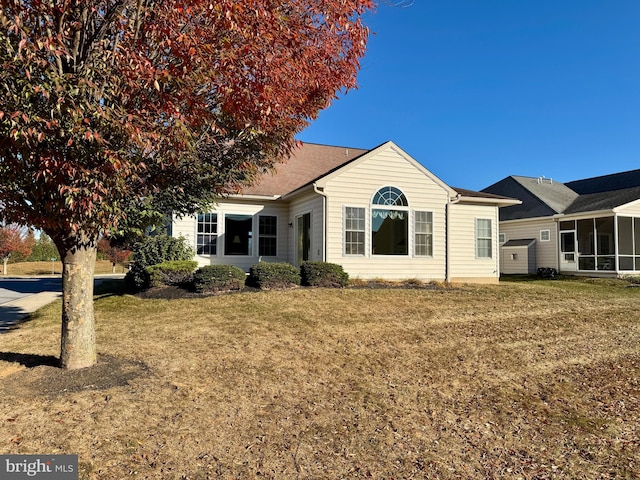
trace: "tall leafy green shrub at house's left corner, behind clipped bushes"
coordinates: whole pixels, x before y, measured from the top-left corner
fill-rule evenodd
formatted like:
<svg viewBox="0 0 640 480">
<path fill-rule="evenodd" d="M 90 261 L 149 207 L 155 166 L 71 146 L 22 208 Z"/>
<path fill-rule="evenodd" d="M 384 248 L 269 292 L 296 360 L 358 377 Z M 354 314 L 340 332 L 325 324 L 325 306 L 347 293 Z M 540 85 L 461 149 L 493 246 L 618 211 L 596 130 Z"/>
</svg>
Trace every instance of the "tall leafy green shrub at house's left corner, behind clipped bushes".
<svg viewBox="0 0 640 480">
<path fill-rule="evenodd" d="M 182 237 L 167 235 L 147 237 L 133 246 L 132 264 L 125 276 L 128 291 L 138 292 L 149 288 L 151 278 L 147 267 L 174 260 L 192 260 L 193 248 Z"/>
</svg>

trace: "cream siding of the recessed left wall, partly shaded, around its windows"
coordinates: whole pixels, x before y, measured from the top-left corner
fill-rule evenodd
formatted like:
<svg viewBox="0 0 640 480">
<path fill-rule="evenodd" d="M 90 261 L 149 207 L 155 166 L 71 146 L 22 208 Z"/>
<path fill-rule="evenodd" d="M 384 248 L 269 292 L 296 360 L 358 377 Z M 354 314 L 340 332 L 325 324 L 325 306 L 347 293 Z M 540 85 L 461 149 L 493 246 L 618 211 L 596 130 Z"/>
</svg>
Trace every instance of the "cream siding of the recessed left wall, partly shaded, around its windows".
<svg viewBox="0 0 640 480">
<path fill-rule="evenodd" d="M 258 255 L 258 215 L 273 215 L 277 217 L 277 256 L 263 257 L 263 261 L 285 262 L 289 253 L 289 228 L 288 214 L 286 206 L 282 204 L 256 205 L 254 203 L 237 201 L 222 201 L 211 209 L 211 212 L 218 214 L 218 242 L 216 255 L 196 255 L 195 260 L 198 265 L 236 265 L 245 271 L 260 259 Z M 225 214 L 241 214 L 253 216 L 253 252 L 251 255 L 225 255 L 224 254 L 224 216 Z M 181 219 L 174 217 L 172 235 L 182 236 L 191 247 L 196 249 L 197 238 L 197 216 L 185 216 Z"/>
</svg>

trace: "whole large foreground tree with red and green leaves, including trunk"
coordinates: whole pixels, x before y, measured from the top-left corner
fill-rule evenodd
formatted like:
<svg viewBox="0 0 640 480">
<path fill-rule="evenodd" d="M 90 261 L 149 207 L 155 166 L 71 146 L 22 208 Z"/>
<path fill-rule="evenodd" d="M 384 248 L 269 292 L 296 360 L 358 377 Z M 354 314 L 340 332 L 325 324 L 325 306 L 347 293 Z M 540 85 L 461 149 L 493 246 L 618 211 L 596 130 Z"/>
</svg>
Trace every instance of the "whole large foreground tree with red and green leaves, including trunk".
<svg viewBox="0 0 640 480">
<path fill-rule="evenodd" d="M 63 261 L 63 368 L 96 362 L 103 232 L 195 211 L 287 157 L 353 88 L 371 0 L 2 0 L 0 218 Z"/>
</svg>

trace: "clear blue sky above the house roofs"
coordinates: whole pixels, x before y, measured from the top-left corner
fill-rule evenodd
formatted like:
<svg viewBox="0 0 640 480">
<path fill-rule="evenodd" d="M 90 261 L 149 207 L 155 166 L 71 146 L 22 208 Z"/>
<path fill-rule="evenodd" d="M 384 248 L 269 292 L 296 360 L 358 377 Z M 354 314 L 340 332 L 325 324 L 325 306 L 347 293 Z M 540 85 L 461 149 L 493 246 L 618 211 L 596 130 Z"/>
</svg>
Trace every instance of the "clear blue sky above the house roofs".
<svg viewBox="0 0 640 480">
<path fill-rule="evenodd" d="M 415 0 L 367 23 L 359 88 L 303 142 L 392 140 L 474 190 L 640 168 L 640 0 Z"/>
</svg>

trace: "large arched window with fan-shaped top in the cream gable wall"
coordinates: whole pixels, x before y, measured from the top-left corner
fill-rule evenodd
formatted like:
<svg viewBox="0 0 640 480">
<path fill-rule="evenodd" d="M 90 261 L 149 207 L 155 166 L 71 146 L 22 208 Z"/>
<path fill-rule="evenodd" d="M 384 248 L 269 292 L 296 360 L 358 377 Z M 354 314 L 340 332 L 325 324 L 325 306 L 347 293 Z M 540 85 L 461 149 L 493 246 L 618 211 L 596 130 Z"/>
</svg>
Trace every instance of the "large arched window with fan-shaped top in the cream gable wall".
<svg viewBox="0 0 640 480">
<path fill-rule="evenodd" d="M 383 187 L 371 201 L 371 251 L 374 255 L 409 254 L 409 203 L 396 187 Z"/>
</svg>

